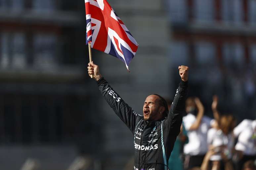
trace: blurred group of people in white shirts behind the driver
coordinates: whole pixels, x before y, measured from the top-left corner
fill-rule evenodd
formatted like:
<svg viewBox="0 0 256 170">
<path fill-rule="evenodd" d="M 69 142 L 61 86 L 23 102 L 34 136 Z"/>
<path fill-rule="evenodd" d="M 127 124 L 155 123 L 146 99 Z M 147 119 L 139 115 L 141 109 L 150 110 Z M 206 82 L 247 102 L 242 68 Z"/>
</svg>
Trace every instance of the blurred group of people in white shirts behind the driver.
<svg viewBox="0 0 256 170">
<path fill-rule="evenodd" d="M 232 114 L 220 113 L 213 96 L 214 119 L 204 115 L 198 98 L 186 100 L 186 115 L 169 159 L 170 170 L 256 170 L 256 120 L 237 125 Z"/>
</svg>

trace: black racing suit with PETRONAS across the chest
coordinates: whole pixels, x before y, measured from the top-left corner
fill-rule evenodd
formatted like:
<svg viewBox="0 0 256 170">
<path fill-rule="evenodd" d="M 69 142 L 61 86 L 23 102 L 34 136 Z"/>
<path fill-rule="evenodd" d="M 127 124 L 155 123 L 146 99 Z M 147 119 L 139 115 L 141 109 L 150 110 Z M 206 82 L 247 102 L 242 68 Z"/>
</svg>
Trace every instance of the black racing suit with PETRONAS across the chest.
<svg viewBox="0 0 256 170">
<path fill-rule="evenodd" d="M 168 159 L 180 133 L 188 82 L 180 82 L 168 116 L 154 122 L 144 121 L 143 116 L 125 103 L 104 78 L 97 84 L 110 107 L 134 135 L 134 169 L 167 170 Z"/>
</svg>

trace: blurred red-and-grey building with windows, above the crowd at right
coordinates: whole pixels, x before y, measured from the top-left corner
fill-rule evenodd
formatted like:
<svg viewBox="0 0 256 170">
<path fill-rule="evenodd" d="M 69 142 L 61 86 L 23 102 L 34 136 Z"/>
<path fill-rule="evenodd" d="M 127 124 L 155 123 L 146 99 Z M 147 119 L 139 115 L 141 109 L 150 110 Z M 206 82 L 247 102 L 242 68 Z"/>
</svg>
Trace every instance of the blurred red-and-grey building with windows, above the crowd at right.
<svg viewBox="0 0 256 170">
<path fill-rule="evenodd" d="M 255 119 L 256 1 L 166 1 L 171 67 L 190 66 L 190 95 L 210 111 L 218 94 L 223 112 Z M 208 113 L 210 114 L 210 113 Z"/>
</svg>

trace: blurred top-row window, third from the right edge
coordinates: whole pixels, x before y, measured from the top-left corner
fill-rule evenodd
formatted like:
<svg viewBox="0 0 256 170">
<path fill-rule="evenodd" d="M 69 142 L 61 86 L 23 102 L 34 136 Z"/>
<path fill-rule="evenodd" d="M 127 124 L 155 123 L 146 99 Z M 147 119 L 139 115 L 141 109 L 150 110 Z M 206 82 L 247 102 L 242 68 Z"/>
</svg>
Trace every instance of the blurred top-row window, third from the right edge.
<svg viewBox="0 0 256 170">
<path fill-rule="evenodd" d="M 196 20 L 212 21 L 214 19 L 213 0 L 194 0 L 194 17 Z"/>
</svg>

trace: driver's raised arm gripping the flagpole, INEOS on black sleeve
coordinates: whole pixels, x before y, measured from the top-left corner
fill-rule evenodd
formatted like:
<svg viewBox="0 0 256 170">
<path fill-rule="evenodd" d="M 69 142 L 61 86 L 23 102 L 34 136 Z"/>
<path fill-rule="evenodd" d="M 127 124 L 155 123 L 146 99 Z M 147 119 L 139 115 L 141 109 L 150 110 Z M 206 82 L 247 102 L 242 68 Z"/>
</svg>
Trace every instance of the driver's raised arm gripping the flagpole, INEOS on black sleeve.
<svg viewBox="0 0 256 170">
<path fill-rule="evenodd" d="M 88 74 L 93 75 L 93 78 L 97 81 L 97 85 L 101 94 L 109 106 L 114 110 L 116 115 L 126 124 L 126 126 L 134 133 L 134 127 L 136 126 L 136 120 L 140 120 L 143 117 L 138 115 L 124 100 L 113 90 L 113 88 L 107 83 L 107 81 L 100 74 L 99 66 L 96 64 L 88 64 Z"/>
</svg>

